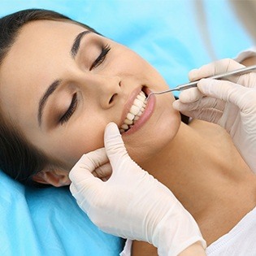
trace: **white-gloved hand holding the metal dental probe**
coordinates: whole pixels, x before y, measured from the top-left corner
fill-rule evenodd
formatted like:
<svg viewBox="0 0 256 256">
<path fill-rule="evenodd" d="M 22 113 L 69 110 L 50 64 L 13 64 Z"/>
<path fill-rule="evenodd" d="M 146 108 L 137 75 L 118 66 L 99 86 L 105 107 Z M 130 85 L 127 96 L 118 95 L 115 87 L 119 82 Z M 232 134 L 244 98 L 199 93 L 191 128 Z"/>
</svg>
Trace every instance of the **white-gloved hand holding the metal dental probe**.
<svg viewBox="0 0 256 256">
<path fill-rule="evenodd" d="M 241 67 L 245 66 L 223 59 L 189 72 L 189 80 Z M 230 76 L 227 80 L 202 79 L 197 88 L 180 93 L 173 107 L 184 115 L 225 128 L 245 162 L 256 173 L 256 73 Z"/>
</svg>

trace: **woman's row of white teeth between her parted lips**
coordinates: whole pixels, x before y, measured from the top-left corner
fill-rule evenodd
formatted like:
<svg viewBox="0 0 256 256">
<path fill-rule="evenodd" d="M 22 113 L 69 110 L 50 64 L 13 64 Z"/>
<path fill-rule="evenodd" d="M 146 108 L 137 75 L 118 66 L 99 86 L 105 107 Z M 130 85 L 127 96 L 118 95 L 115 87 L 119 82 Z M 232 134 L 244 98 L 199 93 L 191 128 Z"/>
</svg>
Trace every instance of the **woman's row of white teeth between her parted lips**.
<svg viewBox="0 0 256 256">
<path fill-rule="evenodd" d="M 124 120 L 124 124 L 119 129 L 121 133 L 126 132 L 129 128 L 132 128 L 133 124 L 140 119 L 143 111 L 145 111 L 145 106 L 147 103 L 145 99 L 145 93 L 141 91 L 141 93 L 139 93 L 137 98 L 134 100 L 129 113 Z"/>
</svg>

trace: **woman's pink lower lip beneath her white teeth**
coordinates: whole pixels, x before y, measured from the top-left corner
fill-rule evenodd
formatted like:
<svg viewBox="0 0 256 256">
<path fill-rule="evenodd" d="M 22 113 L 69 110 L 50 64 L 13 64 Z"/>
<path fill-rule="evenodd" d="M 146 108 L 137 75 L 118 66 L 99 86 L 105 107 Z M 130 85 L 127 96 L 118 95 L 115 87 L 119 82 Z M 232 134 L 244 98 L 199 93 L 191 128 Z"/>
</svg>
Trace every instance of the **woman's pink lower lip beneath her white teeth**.
<svg viewBox="0 0 256 256">
<path fill-rule="evenodd" d="M 150 89 L 145 88 L 145 93 L 149 95 L 151 93 Z M 150 119 L 150 116 L 153 114 L 154 111 L 154 105 L 155 105 L 155 96 L 154 94 L 150 96 L 149 101 L 146 103 L 145 111 L 143 111 L 141 117 L 137 120 L 137 122 L 132 126 L 132 128 L 128 129 L 127 132 L 124 132 L 122 136 L 130 135 L 133 132 L 137 132 L 138 129 L 140 129 L 145 122 Z"/>
</svg>

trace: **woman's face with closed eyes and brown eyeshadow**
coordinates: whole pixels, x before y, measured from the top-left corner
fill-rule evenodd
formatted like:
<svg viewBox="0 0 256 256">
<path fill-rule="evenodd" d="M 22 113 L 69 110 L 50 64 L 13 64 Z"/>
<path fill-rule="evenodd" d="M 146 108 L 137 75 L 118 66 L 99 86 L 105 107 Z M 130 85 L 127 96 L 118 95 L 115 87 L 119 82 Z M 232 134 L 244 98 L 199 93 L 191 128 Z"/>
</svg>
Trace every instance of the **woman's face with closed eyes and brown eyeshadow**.
<svg viewBox="0 0 256 256">
<path fill-rule="evenodd" d="M 80 25 L 47 20 L 22 28 L 2 63 L 0 85 L 4 114 L 67 170 L 82 154 L 104 146 L 106 124 L 120 128 L 141 89 L 167 89 L 132 50 Z M 137 124 L 123 133 L 137 163 L 176 135 L 180 115 L 173 100 L 170 94 L 150 97 Z"/>
</svg>

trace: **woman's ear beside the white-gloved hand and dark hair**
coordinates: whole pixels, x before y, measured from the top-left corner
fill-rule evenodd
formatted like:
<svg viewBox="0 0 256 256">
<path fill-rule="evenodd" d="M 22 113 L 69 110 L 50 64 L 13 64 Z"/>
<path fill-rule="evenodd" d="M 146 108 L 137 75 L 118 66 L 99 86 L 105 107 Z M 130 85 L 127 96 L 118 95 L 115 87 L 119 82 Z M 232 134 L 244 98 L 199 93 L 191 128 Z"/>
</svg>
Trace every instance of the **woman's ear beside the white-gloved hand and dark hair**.
<svg viewBox="0 0 256 256">
<path fill-rule="evenodd" d="M 33 180 L 37 183 L 51 184 L 54 187 L 62 187 L 71 184 L 68 171 L 58 169 L 39 171 L 33 176 Z"/>
</svg>

